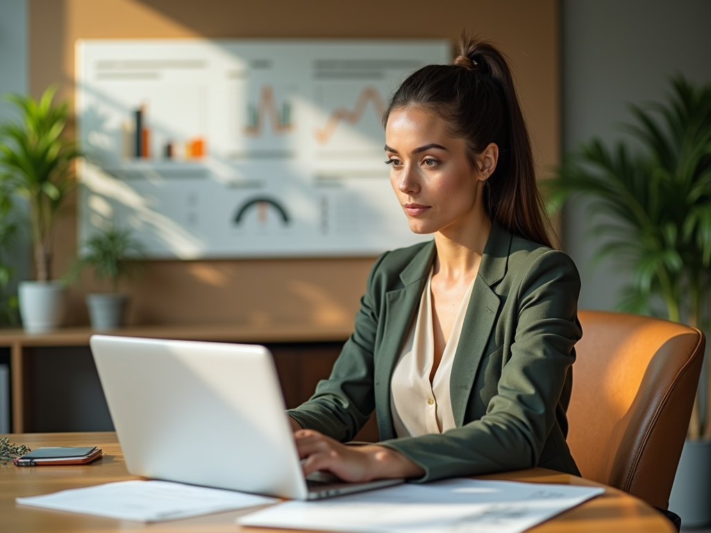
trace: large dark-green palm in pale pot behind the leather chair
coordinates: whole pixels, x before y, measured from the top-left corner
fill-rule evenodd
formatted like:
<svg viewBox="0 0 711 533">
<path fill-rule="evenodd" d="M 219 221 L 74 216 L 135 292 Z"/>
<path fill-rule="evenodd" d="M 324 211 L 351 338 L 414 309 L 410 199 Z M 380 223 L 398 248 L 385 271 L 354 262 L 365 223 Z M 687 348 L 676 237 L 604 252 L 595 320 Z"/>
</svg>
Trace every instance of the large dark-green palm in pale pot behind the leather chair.
<svg viewBox="0 0 711 533">
<path fill-rule="evenodd" d="M 711 85 L 695 87 L 683 77 L 671 85 L 665 104 L 631 107 L 636 121 L 624 127 L 641 150 L 624 143 L 608 149 L 594 139 L 565 157 L 544 187 L 551 210 L 570 195 L 592 199 L 591 233 L 606 237 L 597 257 L 612 256 L 634 274 L 621 311 L 661 314 L 708 331 Z M 697 396 L 670 498 L 670 509 L 689 526 L 711 522 L 710 400 L 707 394 L 702 422 Z"/>
</svg>

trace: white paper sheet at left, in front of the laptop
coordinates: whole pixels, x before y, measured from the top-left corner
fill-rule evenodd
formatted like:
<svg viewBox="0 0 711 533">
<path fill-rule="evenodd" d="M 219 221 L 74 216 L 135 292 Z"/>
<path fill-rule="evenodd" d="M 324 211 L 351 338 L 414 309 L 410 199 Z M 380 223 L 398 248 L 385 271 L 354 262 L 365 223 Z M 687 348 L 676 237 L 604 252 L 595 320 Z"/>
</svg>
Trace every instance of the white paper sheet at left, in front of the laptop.
<svg viewBox="0 0 711 533">
<path fill-rule="evenodd" d="M 21 505 L 85 515 L 160 522 L 277 502 L 276 498 L 169 481 L 119 481 L 16 498 Z"/>
</svg>

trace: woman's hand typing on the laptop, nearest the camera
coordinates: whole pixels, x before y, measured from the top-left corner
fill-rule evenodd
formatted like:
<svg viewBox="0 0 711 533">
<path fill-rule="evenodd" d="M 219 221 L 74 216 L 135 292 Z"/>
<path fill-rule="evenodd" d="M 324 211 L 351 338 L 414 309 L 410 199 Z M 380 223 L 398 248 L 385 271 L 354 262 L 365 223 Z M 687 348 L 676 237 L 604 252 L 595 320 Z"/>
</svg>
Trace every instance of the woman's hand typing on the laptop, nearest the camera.
<svg viewBox="0 0 711 533">
<path fill-rule="evenodd" d="M 402 453 L 385 446 L 346 446 L 312 429 L 294 432 L 304 475 L 325 470 L 344 481 L 370 481 L 385 478 L 417 478 L 422 467 Z"/>
</svg>

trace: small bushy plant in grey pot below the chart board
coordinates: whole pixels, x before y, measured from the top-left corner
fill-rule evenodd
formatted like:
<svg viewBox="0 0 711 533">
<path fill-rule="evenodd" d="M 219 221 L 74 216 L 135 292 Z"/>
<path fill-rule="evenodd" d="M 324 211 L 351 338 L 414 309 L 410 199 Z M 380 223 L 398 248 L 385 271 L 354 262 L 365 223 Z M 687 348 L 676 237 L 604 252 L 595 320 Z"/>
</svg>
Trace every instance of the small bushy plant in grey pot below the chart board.
<svg viewBox="0 0 711 533">
<path fill-rule="evenodd" d="M 108 330 L 123 325 L 128 298 L 119 294 L 119 281 L 134 274 L 138 266 L 136 259 L 142 257 L 143 247 L 129 230 L 112 227 L 86 240 L 70 276 L 76 279 L 82 270 L 89 267 L 97 280 L 111 284 L 109 293 L 86 296 L 92 328 Z"/>
</svg>

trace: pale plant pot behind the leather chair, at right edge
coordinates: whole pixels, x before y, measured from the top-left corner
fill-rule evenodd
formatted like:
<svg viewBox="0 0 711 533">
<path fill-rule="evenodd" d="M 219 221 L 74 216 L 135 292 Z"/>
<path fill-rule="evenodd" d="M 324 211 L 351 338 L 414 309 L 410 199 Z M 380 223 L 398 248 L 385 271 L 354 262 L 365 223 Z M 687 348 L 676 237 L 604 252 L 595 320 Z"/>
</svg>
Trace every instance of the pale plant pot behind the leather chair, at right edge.
<svg viewBox="0 0 711 533">
<path fill-rule="evenodd" d="M 669 497 L 683 527 L 711 524 L 711 441 L 686 441 Z"/>
</svg>

